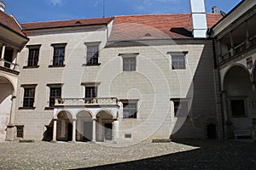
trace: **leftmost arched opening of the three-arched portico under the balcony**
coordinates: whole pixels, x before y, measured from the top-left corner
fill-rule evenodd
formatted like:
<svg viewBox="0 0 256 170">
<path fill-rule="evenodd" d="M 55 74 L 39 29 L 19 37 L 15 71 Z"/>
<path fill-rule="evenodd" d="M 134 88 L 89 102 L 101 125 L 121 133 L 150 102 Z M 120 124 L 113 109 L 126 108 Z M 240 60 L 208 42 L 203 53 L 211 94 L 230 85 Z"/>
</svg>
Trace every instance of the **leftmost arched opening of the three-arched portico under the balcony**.
<svg viewBox="0 0 256 170">
<path fill-rule="evenodd" d="M 73 137 L 73 117 L 68 111 L 61 111 L 58 114 L 57 135 L 58 141 L 72 141 Z"/>
</svg>

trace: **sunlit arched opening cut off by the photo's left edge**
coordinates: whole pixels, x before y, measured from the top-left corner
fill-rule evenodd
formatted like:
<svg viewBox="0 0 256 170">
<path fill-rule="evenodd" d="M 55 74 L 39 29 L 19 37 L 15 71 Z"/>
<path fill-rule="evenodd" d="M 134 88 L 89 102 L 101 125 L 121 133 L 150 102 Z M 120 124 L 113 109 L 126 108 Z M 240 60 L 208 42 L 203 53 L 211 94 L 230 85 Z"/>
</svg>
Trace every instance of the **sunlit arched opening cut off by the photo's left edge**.
<svg viewBox="0 0 256 170">
<path fill-rule="evenodd" d="M 14 87 L 5 77 L 0 77 L 0 140 L 5 140 L 9 124 Z"/>
</svg>

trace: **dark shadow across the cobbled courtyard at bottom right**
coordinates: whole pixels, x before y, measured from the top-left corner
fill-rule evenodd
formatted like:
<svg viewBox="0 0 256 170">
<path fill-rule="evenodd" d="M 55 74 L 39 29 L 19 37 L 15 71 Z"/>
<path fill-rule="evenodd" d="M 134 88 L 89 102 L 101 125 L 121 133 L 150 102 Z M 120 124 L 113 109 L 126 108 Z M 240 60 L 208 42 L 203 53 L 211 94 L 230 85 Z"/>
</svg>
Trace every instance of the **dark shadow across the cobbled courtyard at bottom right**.
<svg viewBox="0 0 256 170">
<path fill-rule="evenodd" d="M 200 147 L 165 156 L 80 169 L 256 169 L 256 144 L 216 140 L 177 140 Z M 104 153 L 102 153 L 104 154 Z"/>
</svg>

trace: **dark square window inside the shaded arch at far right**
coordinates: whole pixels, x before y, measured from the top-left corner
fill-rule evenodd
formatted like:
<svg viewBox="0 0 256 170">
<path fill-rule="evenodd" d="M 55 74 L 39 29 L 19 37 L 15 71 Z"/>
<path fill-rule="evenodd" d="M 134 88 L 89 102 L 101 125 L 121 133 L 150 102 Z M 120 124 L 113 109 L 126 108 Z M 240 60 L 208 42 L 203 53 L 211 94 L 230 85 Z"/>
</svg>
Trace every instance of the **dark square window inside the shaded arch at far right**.
<svg viewBox="0 0 256 170">
<path fill-rule="evenodd" d="M 246 116 L 244 99 L 230 99 L 232 116 Z"/>
</svg>

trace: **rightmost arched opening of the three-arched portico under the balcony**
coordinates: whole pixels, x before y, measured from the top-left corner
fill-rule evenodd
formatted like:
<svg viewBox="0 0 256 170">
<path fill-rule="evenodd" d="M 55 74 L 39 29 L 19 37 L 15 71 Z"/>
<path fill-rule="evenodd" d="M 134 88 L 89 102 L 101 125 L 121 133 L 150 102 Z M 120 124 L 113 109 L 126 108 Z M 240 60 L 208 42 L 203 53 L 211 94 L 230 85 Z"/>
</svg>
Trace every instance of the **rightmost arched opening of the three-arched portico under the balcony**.
<svg viewBox="0 0 256 170">
<path fill-rule="evenodd" d="M 113 140 L 113 115 L 109 111 L 100 111 L 96 115 L 96 141 Z"/>
</svg>

